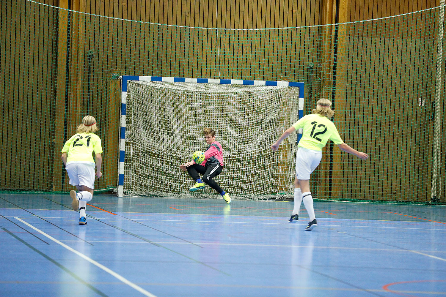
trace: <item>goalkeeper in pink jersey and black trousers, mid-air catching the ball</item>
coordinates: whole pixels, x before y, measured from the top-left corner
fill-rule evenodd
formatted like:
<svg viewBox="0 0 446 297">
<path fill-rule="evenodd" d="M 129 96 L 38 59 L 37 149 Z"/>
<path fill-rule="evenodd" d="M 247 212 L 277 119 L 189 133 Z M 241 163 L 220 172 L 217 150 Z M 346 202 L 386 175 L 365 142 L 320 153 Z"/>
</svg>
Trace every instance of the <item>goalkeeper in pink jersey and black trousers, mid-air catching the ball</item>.
<svg viewBox="0 0 446 297">
<path fill-rule="evenodd" d="M 204 161 L 201 164 L 197 164 L 194 161 L 189 161 L 186 164 L 180 165 L 180 168 L 187 171 L 189 175 L 196 182 L 189 191 L 197 191 L 204 189 L 205 183 L 211 186 L 215 191 L 223 196 L 223 199 L 227 204 L 231 203 L 231 197 L 229 194 L 223 191 L 218 183 L 213 178 L 219 175 L 223 170 L 223 147 L 220 142 L 215 141 L 215 131 L 211 128 L 204 128 L 204 139 L 209 145 L 204 152 Z M 203 178 L 200 178 L 202 174 Z"/>
</svg>

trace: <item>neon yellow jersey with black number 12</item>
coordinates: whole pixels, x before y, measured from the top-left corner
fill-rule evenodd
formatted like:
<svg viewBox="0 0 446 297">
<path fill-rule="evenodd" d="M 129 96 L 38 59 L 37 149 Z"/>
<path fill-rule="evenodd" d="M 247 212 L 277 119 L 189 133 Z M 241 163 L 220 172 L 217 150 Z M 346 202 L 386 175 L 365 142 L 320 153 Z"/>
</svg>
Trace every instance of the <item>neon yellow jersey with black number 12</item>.
<svg viewBox="0 0 446 297">
<path fill-rule="evenodd" d="M 331 139 L 335 144 L 342 144 L 335 124 L 327 117 L 320 114 L 307 114 L 294 123 L 293 127 L 297 130 L 303 128 L 302 138 L 297 146 L 309 150 L 322 151 L 328 141 Z"/>
</svg>

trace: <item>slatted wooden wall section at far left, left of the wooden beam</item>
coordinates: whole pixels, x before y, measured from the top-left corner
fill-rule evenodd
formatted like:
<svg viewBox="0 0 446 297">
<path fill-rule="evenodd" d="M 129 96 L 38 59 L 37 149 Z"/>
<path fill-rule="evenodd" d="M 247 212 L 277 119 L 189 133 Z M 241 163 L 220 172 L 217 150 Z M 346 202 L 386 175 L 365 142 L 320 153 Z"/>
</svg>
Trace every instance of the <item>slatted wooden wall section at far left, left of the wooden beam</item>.
<svg viewBox="0 0 446 297">
<path fill-rule="evenodd" d="M 54 155 L 54 8 L 3 1 L 0 188 L 51 191 Z"/>
</svg>

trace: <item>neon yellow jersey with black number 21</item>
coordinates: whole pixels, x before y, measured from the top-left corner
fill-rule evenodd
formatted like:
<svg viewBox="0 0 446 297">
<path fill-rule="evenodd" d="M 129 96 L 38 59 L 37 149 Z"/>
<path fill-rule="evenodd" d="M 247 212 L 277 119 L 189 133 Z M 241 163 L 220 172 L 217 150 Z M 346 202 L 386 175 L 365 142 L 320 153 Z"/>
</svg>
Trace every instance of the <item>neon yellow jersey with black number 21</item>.
<svg viewBox="0 0 446 297">
<path fill-rule="evenodd" d="M 93 162 L 92 152 L 95 154 L 102 153 L 101 138 L 94 133 L 78 133 L 71 136 L 65 142 L 62 153 L 66 152 L 68 158 L 66 162 Z"/>
</svg>

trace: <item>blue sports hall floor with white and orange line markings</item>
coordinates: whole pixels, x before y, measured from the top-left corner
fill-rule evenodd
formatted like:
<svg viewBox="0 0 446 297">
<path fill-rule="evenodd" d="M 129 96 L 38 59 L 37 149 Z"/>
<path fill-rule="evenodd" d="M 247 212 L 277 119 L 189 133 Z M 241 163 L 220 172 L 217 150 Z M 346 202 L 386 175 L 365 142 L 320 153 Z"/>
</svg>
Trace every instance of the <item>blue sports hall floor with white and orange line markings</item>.
<svg viewBox="0 0 446 297">
<path fill-rule="evenodd" d="M 0 296 L 446 296 L 446 207 L 0 194 Z"/>
</svg>

